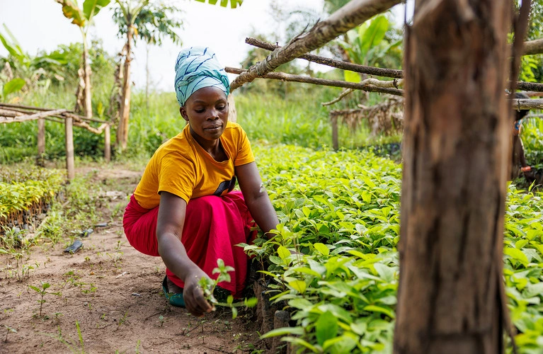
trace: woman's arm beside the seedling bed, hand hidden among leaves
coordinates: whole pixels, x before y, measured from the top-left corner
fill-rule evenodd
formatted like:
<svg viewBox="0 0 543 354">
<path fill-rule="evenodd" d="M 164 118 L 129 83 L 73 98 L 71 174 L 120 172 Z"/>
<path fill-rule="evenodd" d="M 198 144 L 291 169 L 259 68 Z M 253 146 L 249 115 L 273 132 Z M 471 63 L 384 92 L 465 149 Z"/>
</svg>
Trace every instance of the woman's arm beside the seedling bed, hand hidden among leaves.
<svg viewBox="0 0 543 354">
<path fill-rule="evenodd" d="M 239 188 L 244 194 L 245 204 L 256 224 L 267 234 L 271 229 L 277 228 L 279 220 L 273 205 L 268 197 L 268 192 L 262 187 L 262 179 L 256 163 L 251 162 L 236 167 L 236 177 Z"/>
</svg>

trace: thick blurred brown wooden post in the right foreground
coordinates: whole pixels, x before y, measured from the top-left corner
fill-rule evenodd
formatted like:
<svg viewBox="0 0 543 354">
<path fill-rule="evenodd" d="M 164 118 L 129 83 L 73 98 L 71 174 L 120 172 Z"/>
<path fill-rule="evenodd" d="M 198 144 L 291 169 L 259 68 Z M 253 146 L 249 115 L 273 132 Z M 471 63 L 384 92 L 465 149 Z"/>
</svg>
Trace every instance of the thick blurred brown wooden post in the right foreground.
<svg viewBox="0 0 543 354">
<path fill-rule="evenodd" d="M 406 28 L 395 354 L 503 353 L 506 0 L 418 0 Z"/>
</svg>

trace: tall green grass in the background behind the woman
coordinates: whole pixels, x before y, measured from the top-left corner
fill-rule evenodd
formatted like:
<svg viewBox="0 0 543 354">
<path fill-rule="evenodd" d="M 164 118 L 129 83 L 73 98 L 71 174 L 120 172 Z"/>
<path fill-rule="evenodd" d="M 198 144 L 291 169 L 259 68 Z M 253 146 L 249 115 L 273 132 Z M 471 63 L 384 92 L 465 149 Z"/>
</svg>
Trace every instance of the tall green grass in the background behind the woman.
<svg viewBox="0 0 543 354">
<path fill-rule="evenodd" d="M 94 87 L 93 111 L 103 120 L 108 117 L 109 96 L 113 83 L 103 81 Z M 290 91 L 245 90 L 235 92 L 237 122 L 253 142 L 293 144 L 312 149 L 329 149 L 332 145 L 331 124 L 328 114 L 338 107 L 323 107 L 322 102 L 331 101 L 340 89 L 290 85 Z M 358 94 L 358 93 L 357 93 Z M 372 97 L 375 101 L 377 96 Z M 74 89 L 71 86 L 52 86 L 47 91 L 26 93 L 20 103 L 46 108 L 68 108 L 74 105 Z M 98 114 L 97 114 L 98 112 Z M 94 123 L 94 125 L 97 125 Z M 179 114 L 175 93 L 152 92 L 146 97 L 142 91 L 132 94 L 129 126 L 129 145 L 114 159 L 148 158 L 161 143 L 181 132 L 185 120 Z M 45 123 L 46 159 L 64 159 L 64 125 Z M 33 159 L 37 154 L 38 128 L 35 121 L 0 125 L 0 162 L 8 163 Z M 353 149 L 367 144 L 369 129 L 362 127 L 350 131 L 340 125 L 338 136 L 340 147 Z M 115 129 L 112 130 L 115 142 Z M 74 127 L 74 149 L 76 156 L 103 156 L 103 135 L 95 135 Z"/>
</svg>

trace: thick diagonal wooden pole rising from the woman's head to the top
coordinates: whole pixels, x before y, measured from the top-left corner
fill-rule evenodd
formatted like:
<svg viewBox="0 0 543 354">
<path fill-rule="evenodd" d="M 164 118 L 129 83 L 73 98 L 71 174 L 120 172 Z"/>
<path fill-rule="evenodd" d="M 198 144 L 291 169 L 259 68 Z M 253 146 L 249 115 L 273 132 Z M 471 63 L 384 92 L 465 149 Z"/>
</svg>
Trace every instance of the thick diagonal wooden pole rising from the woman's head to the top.
<svg viewBox="0 0 543 354">
<path fill-rule="evenodd" d="M 353 0 L 332 13 L 326 20 L 316 23 L 308 33 L 292 38 L 285 47 L 274 50 L 266 59 L 253 65 L 247 72 L 240 74 L 232 85 L 231 91 L 257 77 L 262 77 L 277 69 L 281 64 L 290 62 L 300 55 L 322 47 L 329 41 L 360 23 L 367 21 L 377 13 L 387 11 L 401 0 Z"/>
</svg>

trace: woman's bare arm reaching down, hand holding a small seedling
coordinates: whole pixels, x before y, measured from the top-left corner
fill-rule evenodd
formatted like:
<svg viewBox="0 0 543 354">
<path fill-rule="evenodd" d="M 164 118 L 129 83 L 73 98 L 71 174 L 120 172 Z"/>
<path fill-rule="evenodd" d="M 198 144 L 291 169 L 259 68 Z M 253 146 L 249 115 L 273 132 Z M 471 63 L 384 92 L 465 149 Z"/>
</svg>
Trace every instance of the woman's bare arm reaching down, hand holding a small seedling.
<svg viewBox="0 0 543 354">
<path fill-rule="evenodd" d="M 212 311 L 206 301 L 198 281 L 207 277 L 203 270 L 188 258 L 185 246 L 181 243 L 187 203 L 177 195 L 168 192 L 160 194 L 159 216 L 156 222 L 156 239 L 159 254 L 168 267 L 183 282 L 183 299 L 188 311 L 195 316 L 202 316 Z"/>
</svg>

